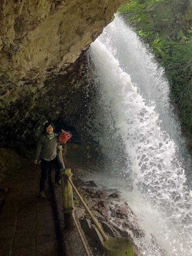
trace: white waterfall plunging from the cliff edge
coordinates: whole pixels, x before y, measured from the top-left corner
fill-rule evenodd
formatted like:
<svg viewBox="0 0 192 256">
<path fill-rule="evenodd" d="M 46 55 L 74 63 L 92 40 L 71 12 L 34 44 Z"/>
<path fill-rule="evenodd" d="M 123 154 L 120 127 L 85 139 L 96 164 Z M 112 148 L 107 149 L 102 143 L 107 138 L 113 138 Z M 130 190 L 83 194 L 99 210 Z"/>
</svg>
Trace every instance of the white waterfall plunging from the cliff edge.
<svg viewBox="0 0 192 256">
<path fill-rule="evenodd" d="M 130 235 L 141 255 L 191 256 L 192 190 L 186 185 L 186 151 L 163 70 L 118 17 L 91 44 L 89 54 L 112 104 L 131 170 L 127 182 L 133 189 L 123 196 L 144 236 Z"/>
</svg>

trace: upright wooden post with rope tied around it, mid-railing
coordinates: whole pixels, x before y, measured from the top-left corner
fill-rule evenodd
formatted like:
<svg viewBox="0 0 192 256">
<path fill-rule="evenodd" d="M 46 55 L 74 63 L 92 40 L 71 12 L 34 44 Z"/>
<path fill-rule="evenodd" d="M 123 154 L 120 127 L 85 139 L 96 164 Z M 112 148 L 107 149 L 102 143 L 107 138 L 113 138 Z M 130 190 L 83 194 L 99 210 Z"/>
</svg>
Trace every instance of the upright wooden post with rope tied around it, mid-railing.
<svg viewBox="0 0 192 256">
<path fill-rule="evenodd" d="M 68 178 L 71 180 L 71 169 L 61 169 L 61 190 L 64 210 L 64 222 L 65 228 L 73 230 L 75 227 L 74 220 L 72 217 L 73 205 L 73 191 Z"/>
</svg>

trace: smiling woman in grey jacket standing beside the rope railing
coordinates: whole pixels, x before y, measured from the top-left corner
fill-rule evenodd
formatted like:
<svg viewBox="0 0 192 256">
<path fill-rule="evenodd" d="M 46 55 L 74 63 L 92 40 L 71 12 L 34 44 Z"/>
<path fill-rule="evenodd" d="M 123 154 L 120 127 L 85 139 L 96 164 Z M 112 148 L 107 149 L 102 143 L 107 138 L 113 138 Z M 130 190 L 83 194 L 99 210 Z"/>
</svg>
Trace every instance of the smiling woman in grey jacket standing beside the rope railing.
<svg viewBox="0 0 192 256">
<path fill-rule="evenodd" d="M 55 127 L 52 122 L 47 122 L 44 125 L 42 134 L 40 134 L 36 157 L 34 163 L 38 163 L 38 159 L 41 160 L 41 179 L 40 179 L 40 198 L 45 198 L 44 187 L 45 180 L 47 178 L 48 170 L 53 164 L 56 168 L 55 171 L 55 183 L 56 186 L 61 186 L 60 181 L 60 169 L 63 168 L 60 159 L 57 156 L 57 144 L 58 144 L 58 134 L 54 133 Z M 61 130 L 63 132 L 63 130 Z M 66 143 L 66 142 L 65 142 Z"/>
</svg>

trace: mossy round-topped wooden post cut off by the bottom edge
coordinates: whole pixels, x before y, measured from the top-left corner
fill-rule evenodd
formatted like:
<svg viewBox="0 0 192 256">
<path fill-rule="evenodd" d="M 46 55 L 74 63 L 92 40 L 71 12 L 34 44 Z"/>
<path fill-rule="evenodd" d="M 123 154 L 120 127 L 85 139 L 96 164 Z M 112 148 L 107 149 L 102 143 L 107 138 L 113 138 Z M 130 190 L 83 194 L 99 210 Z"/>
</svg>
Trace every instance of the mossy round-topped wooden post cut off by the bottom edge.
<svg viewBox="0 0 192 256">
<path fill-rule="evenodd" d="M 131 240 L 125 237 L 112 237 L 104 242 L 106 256 L 134 256 Z"/>
</svg>

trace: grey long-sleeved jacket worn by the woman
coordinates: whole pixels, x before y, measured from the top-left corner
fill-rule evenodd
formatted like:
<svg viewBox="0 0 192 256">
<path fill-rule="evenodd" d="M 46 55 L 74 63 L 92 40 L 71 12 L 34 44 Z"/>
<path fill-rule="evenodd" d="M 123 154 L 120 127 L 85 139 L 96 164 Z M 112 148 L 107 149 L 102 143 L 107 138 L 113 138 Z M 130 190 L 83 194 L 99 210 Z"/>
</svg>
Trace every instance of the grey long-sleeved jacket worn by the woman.
<svg viewBox="0 0 192 256">
<path fill-rule="evenodd" d="M 52 159 L 57 154 L 57 135 L 50 140 L 45 134 L 40 134 L 37 142 L 35 159 Z"/>
</svg>

